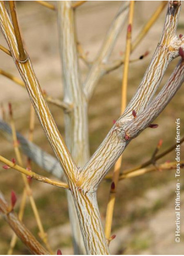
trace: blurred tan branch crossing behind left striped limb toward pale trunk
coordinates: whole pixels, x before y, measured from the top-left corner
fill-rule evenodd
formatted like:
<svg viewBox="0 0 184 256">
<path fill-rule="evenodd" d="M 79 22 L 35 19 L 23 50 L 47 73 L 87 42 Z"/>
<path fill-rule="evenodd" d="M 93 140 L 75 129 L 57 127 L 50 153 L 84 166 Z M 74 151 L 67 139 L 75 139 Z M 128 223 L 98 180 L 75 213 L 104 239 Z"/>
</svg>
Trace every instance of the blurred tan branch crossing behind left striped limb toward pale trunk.
<svg viewBox="0 0 184 256">
<path fill-rule="evenodd" d="M 10 80 L 14 81 L 15 83 L 21 85 L 22 87 L 26 88 L 25 84 L 23 83 L 22 80 L 20 80 L 18 77 L 14 76 L 13 74 L 10 74 L 2 69 L 0 69 L 0 74 L 6 76 Z M 43 94 L 44 98 L 46 99 L 47 102 L 56 105 L 57 107 L 63 108 L 66 112 L 70 112 L 72 109 L 71 104 L 67 104 L 65 102 L 60 101 L 59 99 L 53 98 L 47 94 Z"/>
</svg>

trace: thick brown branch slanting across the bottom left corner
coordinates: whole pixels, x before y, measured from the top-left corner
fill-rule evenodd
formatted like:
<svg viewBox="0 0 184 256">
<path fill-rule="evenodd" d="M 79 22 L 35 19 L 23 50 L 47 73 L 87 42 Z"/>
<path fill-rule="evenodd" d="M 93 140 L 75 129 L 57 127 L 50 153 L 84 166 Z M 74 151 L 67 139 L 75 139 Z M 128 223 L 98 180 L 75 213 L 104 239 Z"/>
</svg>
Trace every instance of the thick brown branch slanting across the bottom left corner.
<svg viewBox="0 0 184 256">
<path fill-rule="evenodd" d="M 20 240 L 28 247 L 30 252 L 37 255 L 49 255 L 32 233 L 23 225 L 14 211 L 9 212 L 9 205 L 0 191 L 0 214 L 8 222 Z"/>
</svg>

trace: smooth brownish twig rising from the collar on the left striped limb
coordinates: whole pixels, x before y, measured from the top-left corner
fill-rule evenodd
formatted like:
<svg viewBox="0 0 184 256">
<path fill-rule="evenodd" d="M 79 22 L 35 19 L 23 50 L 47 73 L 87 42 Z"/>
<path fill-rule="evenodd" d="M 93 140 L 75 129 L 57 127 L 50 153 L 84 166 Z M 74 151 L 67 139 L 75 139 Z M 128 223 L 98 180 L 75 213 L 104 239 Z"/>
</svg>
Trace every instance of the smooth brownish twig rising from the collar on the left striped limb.
<svg viewBox="0 0 184 256">
<path fill-rule="evenodd" d="M 10 8 L 10 13 L 11 13 L 11 20 L 14 26 L 14 31 L 15 31 L 15 37 L 17 40 L 17 46 L 18 46 L 18 51 L 19 51 L 19 60 L 20 61 L 25 61 L 27 59 L 27 54 L 24 51 L 23 48 L 23 43 L 20 35 L 20 30 L 18 26 L 18 21 L 17 21 L 17 14 L 15 10 L 15 1 L 9 1 L 9 8 Z"/>
</svg>

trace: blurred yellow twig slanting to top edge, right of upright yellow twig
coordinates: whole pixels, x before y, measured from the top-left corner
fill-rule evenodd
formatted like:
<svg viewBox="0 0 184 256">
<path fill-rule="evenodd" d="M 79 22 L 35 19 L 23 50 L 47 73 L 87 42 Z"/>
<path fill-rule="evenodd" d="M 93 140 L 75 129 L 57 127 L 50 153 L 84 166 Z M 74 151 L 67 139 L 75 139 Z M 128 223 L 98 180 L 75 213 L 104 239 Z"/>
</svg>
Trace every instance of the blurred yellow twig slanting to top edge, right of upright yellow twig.
<svg viewBox="0 0 184 256">
<path fill-rule="evenodd" d="M 166 5 L 167 5 L 167 1 L 162 1 L 160 6 L 158 6 L 158 8 L 156 9 L 156 11 L 152 15 L 152 17 L 149 19 L 149 21 L 146 23 L 146 25 L 140 31 L 137 38 L 132 42 L 131 51 L 133 51 L 138 46 L 138 44 L 141 42 L 141 40 L 145 37 L 145 35 L 148 33 L 150 28 L 153 26 L 153 24 L 155 23 L 157 18 L 160 16 L 160 14 L 162 13 L 162 11 Z"/>
</svg>

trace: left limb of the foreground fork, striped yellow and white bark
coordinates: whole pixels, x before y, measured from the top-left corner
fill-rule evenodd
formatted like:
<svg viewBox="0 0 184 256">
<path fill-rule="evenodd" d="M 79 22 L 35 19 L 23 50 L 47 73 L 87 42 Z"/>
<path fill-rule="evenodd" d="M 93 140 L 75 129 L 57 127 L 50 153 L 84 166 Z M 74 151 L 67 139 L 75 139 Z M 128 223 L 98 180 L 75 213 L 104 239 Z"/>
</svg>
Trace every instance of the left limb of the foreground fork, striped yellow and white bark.
<svg viewBox="0 0 184 256">
<path fill-rule="evenodd" d="M 50 141 L 51 143 L 53 151 L 57 155 L 57 158 L 61 166 L 63 167 L 68 182 L 71 184 L 75 182 L 75 177 L 78 173 L 78 168 L 75 162 L 73 161 L 65 145 L 65 142 L 57 129 L 57 126 L 50 113 L 50 110 L 47 107 L 39 82 L 34 74 L 29 57 L 23 62 L 19 61 L 16 58 L 16 56 L 19 54 L 19 51 L 17 44 L 15 43 L 16 38 L 14 34 L 14 28 L 13 25 L 11 24 L 10 18 L 8 16 L 3 1 L 1 1 L 0 4 L 0 21 L 4 37 L 9 45 L 13 58 L 15 59 L 15 64 L 20 72 L 20 75 L 22 76 L 22 79 L 27 87 L 36 115 L 38 116 L 40 123 L 42 124 L 48 141 Z"/>
</svg>

